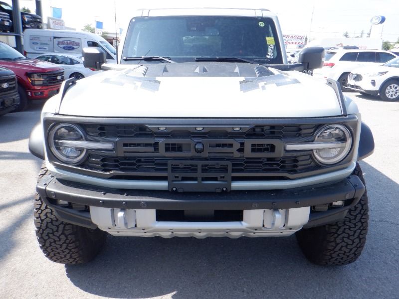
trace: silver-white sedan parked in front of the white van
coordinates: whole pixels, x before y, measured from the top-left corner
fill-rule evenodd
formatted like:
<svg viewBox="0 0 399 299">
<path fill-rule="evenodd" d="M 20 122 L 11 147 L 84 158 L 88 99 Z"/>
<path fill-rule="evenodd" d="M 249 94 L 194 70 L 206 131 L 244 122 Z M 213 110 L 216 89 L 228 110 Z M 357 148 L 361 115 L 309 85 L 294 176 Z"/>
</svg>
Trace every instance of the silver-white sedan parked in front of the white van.
<svg viewBox="0 0 399 299">
<path fill-rule="evenodd" d="M 37 56 L 36 59 L 60 65 L 65 70 L 65 78 L 74 77 L 79 80 L 98 73 L 95 69 L 85 68 L 81 58 L 69 54 L 47 53 Z"/>
</svg>

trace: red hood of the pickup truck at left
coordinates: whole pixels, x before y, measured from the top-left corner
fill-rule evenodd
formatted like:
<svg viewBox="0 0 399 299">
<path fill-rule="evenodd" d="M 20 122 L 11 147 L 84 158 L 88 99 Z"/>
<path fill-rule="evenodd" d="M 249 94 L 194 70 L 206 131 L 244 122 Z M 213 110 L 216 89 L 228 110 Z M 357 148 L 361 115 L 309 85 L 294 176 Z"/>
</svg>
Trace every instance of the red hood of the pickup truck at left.
<svg viewBox="0 0 399 299">
<path fill-rule="evenodd" d="M 15 73 L 20 73 L 21 71 L 51 72 L 63 70 L 62 67 L 59 67 L 54 63 L 38 59 L 0 60 L 0 65 L 9 68 Z"/>
</svg>

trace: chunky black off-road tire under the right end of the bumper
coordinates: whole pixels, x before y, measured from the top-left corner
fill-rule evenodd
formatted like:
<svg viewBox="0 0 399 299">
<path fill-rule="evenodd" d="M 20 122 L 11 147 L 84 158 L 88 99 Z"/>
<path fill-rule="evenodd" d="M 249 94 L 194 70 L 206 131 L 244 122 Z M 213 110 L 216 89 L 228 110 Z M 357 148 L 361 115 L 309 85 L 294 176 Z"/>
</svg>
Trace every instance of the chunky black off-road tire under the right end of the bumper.
<svg viewBox="0 0 399 299">
<path fill-rule="evenodd" d="M 362 169 L 356 165 L 355 175 L 365 183 Z M 305 257 L 317 265 L 346 265 L 355 262 L 366 243 L 369 221 L 367 191 L 352 207 L 343 221 L 302 229 L 296 233 Z"/>
</svg>

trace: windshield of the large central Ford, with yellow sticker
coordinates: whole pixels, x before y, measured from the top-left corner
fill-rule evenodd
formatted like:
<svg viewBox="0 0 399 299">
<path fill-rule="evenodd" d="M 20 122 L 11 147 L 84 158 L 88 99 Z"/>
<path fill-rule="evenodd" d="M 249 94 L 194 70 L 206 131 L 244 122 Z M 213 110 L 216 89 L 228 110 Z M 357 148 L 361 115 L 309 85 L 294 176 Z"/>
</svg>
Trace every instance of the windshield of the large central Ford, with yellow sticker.
<svg viewBox="0 0 399 299">
<path fill-rule="evenodd" d="M 281 64 L 272 19 L 240 16 L 161 16 L 132 19 L 122 57 L 161 56 L 177 62 L 239 57 Z M 121 63 L 143 63 L 129 60 Z"/>
</svg>

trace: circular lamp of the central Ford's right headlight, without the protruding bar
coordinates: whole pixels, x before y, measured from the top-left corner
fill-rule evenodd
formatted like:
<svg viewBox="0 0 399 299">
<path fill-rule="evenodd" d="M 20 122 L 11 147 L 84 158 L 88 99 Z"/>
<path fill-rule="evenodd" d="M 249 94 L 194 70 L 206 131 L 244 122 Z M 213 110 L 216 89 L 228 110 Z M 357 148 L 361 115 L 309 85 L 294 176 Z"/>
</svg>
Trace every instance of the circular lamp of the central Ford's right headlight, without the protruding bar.
<svg viewBox="0 0 399 299">
<path fill-rule="evenodd" d="M 316 159 L 323 164 L 335 164 L 342 161 L 351 150 L 352 136 L 345 126 L 328 125 L 316 135 L 315 143 L 326 143 L 326 149 L 313 150 Z"/>
</svg>

